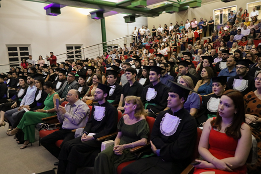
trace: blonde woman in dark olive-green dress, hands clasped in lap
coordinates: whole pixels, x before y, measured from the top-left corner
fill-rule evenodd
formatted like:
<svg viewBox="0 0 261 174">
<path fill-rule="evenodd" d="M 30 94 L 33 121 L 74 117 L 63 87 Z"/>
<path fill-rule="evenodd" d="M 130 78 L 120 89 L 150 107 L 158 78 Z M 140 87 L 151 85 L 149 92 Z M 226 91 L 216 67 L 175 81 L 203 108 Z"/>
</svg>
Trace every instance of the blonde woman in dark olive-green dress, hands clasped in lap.
<svg viewBox="0 0 261 174">
<path fill-rule="evenodd" d="M 114 145 L 109 146 L 95 158 L 94 173 L 117 173 L 117 166 L 136 158 L 130 149 L 145 145 L 149 136 L 149 125 L 141 99 L 136 96 L 125 98 L 123 117 L 118 122 L 118 134 Z"/>
</svg>

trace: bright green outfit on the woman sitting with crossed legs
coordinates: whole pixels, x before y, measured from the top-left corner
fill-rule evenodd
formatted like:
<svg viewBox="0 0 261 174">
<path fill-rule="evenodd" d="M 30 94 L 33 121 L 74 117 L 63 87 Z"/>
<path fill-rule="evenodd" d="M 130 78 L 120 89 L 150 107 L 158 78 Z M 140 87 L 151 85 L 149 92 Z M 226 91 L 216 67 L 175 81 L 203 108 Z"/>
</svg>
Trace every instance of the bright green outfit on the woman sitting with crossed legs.
<svg viewBox="0 0 261 174">
<path fill-rule="evenodd" d="M 54 108 L 53 97 L 58 93 L 54 93 L 53 95 L 48 95 L 44 101 L 44 110 L 50 110 Z M 25 140 L 29 140 L 30 143 L 35 142 L 35 125 L 37 123 L 42 123 L 42 118 L 51 117 L 56 115 L 56 112 L 53 113 L 42 113 L 42 112 L 26 112 L 17 126 L 19 129 L 25 133 Z"/>
</svg>

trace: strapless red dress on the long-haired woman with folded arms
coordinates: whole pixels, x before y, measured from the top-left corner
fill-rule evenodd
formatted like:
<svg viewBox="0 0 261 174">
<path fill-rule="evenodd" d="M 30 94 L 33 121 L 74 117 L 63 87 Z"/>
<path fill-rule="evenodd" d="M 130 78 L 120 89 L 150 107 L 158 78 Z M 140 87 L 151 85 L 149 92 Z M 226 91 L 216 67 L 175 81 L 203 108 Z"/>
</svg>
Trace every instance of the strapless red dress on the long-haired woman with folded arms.
<svg viewBox="0 0 261 174">
<path fill-rule="evenodd" d="M 218 132 L 213 128 L 209 134 L 209 148 L 210 153 L 217 159 L 229 158 L 235 156 L 237 140 L 227 136 L 225 133 Z M 233 171 L 223 171 L 214 168 L 196 168 L 194 173 L 199 174 L 204 171 L 215 171 L 215 174 L 228 173 L 228 174 L 245 174 L 247 169 L 246 165 L 237 167 Z"/>
</svg>

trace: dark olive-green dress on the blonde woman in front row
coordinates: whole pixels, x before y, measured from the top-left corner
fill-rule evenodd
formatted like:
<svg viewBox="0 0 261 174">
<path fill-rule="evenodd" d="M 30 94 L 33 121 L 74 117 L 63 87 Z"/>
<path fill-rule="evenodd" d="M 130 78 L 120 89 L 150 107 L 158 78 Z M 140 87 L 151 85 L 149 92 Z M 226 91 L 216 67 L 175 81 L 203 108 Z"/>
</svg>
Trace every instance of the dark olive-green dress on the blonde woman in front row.
<svg viewBox="0 0 261 174">
<path fill-rule="evenodd" d="M 141 120 L 132 125 L 126 125 L 123 117 L 120 118 L 118 125 L 118 131 L 122 133 L 119 144 L 128 144 L 142 138 L 147 138 L 150 133 L 149 125 L 146 120 Z M 124 149 L 122 155 L 116 155 L 113 151 L 114 145 L 107 147 L 100 152 L 95 158 L 94 173 L 117 173 L 117 166 L 126 161 L 131 161 L 136 158 L 136 155 L 129 152 L 132 148 Z"/>
</svg>

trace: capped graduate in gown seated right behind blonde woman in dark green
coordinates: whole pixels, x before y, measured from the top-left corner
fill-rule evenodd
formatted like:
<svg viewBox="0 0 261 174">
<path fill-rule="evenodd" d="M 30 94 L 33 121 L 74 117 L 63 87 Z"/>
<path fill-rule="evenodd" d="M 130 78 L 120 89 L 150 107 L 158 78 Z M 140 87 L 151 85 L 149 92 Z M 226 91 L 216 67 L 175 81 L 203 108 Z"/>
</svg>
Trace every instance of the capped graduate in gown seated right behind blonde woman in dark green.
<svg viewBox="0 0 261 174">
<path fill-rule="evenodd" d="M 160 82 L 161 72 L 165 70 L 159 66 L 151 66 L 150 82 L 145 86 L 141 100 L 144 109 L 149 117 L 157 117 L 157 113 L 163 111 L 167 107 L 167 98 L 169 88 Z"/>
</svg>

